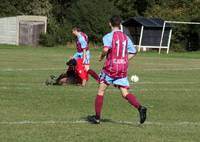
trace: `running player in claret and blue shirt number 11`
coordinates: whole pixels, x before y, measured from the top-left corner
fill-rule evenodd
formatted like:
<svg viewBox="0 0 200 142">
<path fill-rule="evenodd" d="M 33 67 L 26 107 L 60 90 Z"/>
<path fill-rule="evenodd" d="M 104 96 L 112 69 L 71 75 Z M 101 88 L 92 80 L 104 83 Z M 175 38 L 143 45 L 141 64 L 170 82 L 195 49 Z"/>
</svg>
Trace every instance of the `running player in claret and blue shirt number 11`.
<svg viewBox="0 0 200 142">
<path fill-rule="evenodd" d="M 140 123 L 142 124 L 146 120 L 147 108 L 142 106 L 135 95 L 128 91 L 128 60 L 133 58 L 137 51 L 130 38 L 120 30 L 120 23 L 121 18 L 119 16 L 113 16 L 109 22 L 112 32 L 103 37 L 104 47 L 99 61 L 103 60 L 105 56 L 106 61 L 100 75 L 100 85 L 95 99 L 96 114 L 88 116 L 88 121 L 94 124 L 100 123 L 104 92 L 110 84 L 118 87 L 123 98 L 138 109 Z"/>
</svg>

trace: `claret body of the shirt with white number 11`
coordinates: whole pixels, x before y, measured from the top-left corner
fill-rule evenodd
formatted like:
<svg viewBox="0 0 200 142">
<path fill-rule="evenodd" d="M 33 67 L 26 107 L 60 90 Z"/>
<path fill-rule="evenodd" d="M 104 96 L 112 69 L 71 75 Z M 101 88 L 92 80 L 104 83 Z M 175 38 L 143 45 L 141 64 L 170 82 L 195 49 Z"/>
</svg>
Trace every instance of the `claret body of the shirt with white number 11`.
<svg viewBox="0 0 200 142">
<path fill-rule="evenodd" d="M 121 31 L 112 36 L 112 47 L 108 50 L 103 70 L 112 78 L 124 78 L 128 69 L 128 38 Z"/>
</svg>

